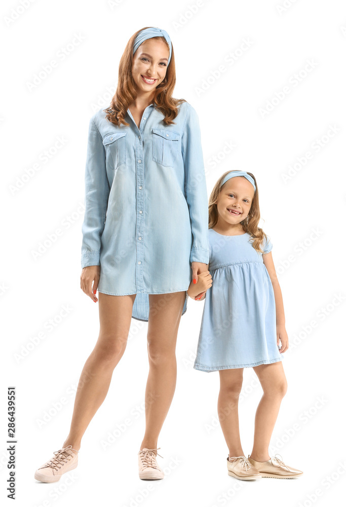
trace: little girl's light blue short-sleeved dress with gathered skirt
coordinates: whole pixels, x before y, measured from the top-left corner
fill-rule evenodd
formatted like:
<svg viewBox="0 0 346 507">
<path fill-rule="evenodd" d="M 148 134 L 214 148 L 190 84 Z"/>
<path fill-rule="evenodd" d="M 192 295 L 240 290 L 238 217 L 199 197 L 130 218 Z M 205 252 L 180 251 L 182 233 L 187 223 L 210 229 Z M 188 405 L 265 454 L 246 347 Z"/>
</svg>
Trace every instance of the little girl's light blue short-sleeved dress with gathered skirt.
<svg viewBox="0 0 346 507">
<path fill-rule="evenodd" d="M 276 363 L 274 289 L 250 234 L 224 236 L 209 229 L 208 289 L 198 340 L 196 370 L 212 372 Z M 265 253 L 272 250 L 267 240 Z"/>
</svg>

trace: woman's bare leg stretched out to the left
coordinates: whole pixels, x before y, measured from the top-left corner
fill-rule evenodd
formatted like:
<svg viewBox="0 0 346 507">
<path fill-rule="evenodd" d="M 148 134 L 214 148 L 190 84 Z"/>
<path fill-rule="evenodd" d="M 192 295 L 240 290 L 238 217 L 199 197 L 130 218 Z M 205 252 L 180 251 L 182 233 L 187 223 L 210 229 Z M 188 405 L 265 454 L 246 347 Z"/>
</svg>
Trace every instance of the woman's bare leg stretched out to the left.
<svg viewBox="0 0 346 507">
<path fill-rule="evenodd" d="M 75 395 L 70 431 L 62 447 L 79 451 L 91 419 L 103 403 L 114 368 L 124 354 L 136 295 L 99 293 L 100 333 L 88 357 Z"/>
</svg>

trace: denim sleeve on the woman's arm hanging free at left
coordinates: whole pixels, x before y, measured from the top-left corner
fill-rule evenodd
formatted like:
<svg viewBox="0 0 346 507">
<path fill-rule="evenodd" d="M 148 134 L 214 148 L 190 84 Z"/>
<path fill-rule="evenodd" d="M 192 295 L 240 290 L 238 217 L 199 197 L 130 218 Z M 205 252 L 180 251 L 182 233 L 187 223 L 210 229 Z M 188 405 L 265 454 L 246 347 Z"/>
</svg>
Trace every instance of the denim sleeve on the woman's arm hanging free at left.
<svg viewBox="0 0 346 507">
<path fill-rule="evenodd" d="M 82 225 L 82 268 L 100 265 L 100 244 L 104 229 L 109 183 L 102 137 L 90 119 L 85 167 L 85 215 Z"/>
</svg>

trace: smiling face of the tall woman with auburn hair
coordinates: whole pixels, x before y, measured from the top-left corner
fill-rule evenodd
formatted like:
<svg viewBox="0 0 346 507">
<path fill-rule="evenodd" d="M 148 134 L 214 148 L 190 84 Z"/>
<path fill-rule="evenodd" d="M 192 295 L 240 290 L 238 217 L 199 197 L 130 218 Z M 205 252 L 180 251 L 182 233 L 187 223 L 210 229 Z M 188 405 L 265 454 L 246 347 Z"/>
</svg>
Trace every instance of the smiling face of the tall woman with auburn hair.
<svg viewBox="0 0 346 507">
<path fill-rule="evenodd" d="M 132 77 L 139 92 L 152 92 L 165 79 L 169 49 L 162 40 L 147 39 L 133 55 Z"/>
</svg>

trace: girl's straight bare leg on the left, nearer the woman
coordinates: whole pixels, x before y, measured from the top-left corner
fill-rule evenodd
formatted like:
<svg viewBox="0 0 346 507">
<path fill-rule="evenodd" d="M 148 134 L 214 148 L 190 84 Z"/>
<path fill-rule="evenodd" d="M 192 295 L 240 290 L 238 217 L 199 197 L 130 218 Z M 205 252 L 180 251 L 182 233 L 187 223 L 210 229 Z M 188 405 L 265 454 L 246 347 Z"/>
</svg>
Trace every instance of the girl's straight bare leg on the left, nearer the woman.
<svg viewBox="0 0 346 507">
<path fill-rule="evenodd" d="M 229 457 L 244 456 L 240 442 L 238 402 L 243 385 L 244 368 L 219 370 L 220 392 L 217 413 Z M 234 461 L 233 459 L 230 461 Z"/>
</svg>

